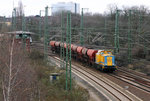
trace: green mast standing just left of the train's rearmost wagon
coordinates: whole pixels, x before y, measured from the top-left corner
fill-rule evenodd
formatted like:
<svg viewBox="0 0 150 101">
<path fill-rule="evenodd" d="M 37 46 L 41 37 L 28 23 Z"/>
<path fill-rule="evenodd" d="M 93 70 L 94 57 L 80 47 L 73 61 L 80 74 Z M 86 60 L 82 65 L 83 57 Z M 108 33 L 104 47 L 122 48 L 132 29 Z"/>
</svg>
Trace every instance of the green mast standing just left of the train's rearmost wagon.
<svg viewBox="0 0 150 101">
<path fill-rule="evenodd" d="M 44 22 L 44 59 L 47 60 L 47 56 L 48 56 L 48 6 L 45 7 L 45 22 Z"/>
</svg>

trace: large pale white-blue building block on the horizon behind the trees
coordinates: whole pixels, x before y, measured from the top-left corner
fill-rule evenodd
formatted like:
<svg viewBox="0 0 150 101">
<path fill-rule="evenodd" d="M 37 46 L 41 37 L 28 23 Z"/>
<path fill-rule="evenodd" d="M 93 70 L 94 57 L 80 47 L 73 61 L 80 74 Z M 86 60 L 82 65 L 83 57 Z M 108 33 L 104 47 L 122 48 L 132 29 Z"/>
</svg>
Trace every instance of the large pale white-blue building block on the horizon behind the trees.
<svg viewBox="0 0 150 101">
<path fill-rule="evenodd" d="M 80 13 L 80 4 L 74 2 L 58 2 L 52 4 L 52 15 L 62 11 L 71 11 L 72 13 Z"/>
</svg>

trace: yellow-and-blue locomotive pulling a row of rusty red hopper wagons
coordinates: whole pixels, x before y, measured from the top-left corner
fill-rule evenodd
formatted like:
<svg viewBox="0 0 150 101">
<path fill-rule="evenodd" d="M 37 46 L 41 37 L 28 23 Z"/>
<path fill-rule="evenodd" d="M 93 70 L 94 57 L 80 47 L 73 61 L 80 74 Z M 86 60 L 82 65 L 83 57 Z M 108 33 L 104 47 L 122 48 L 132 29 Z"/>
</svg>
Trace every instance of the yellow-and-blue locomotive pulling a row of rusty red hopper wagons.
<svg viewBox="0 0 150 101">
<path fill-rule="evenodd" d="M 51 46 L 52 52 L 59 54 L 61 47 L 64 47 L 66 51 L 66 43 L 50 41 L 49 45 Z M 101 71 L 113 72 L 117 69 L 115 64 L 115 56 L 112 55 L 111 51 L 88 49 L 86 47 L 71 44 L 71 55 L 76 60 L 98 68 Z"/>
</svg>

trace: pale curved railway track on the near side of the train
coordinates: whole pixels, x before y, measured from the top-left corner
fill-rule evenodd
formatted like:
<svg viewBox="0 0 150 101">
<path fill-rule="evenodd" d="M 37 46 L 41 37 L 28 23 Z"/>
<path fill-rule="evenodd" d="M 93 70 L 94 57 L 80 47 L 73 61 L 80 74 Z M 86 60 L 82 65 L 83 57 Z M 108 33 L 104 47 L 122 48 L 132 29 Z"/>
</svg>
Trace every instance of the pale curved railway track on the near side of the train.
<svg viewBox="0 0 150 101">
<path fill-rule="evenodd" d="M 54 57 L 57 61 L 60 59 Z M 57 62 L 58 63 L 58 62 Z M 125 91 L 123 88 L 119 87 L 115 83 L 106 79 L 105 77 L 97 74 L 90 69 L 84 68 L 79 65 L 72 65 L 72 71 L 79 75 L 82 79 L 90 81 L 89 83 L 94 85 L 95 89 L 107 96 L 107 99 L 112 101 L 141 101 L 139 98 L 133 94 Z M 83 78 L 84 77 L 84 78 Z M 102 90 L 103 89 L 103 90 Z M 103 92 L 102 92 L 103 91 Z"/>
</svg>

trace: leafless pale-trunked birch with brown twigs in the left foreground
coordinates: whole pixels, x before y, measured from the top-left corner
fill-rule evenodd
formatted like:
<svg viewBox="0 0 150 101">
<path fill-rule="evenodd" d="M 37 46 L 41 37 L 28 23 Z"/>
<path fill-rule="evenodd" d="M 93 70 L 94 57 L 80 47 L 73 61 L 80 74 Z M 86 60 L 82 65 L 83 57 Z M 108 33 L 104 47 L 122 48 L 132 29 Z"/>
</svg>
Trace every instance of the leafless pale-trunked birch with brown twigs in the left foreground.
<svg viewBox="0 0 150 101">
<path fill-rule="evenodd" d="M 35 76 L 22 45 L 14 37 L 2 40 L 0 61 L 3 100 L 29 101 Z"/>
</svg>

